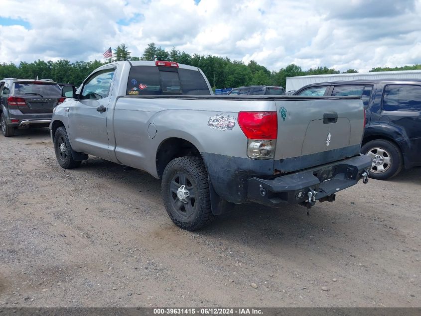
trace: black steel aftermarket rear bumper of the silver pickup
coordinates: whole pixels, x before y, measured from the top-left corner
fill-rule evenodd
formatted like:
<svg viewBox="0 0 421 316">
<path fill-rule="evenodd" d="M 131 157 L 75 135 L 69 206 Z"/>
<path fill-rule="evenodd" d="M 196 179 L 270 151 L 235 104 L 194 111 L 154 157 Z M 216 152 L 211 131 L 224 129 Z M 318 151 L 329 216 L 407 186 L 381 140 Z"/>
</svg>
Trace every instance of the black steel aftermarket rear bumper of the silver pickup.
<svg viewBox="0 0 421 316">
<path fill-rule="evenodd" d="M 333 194 L 358 183 L 370 170 L 371 159 L 366 155 L 337 161 L 273 179 L 251 178 L 247 198 L 266 206 L 280 207 L 306 202 L 308 192 L 314 200 L 334 197 Z"/>
</svg>

